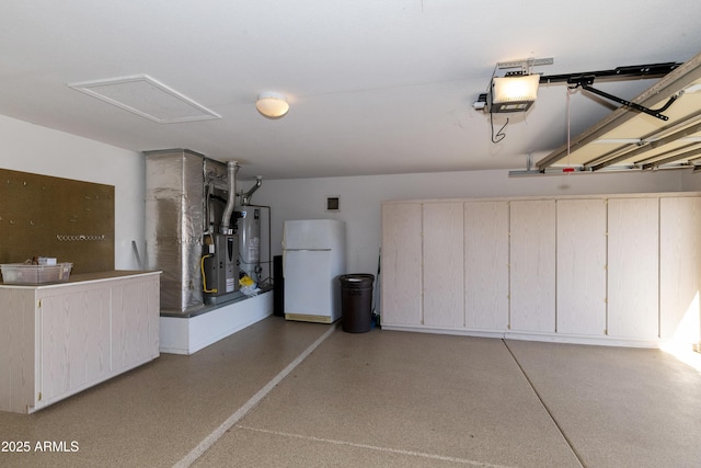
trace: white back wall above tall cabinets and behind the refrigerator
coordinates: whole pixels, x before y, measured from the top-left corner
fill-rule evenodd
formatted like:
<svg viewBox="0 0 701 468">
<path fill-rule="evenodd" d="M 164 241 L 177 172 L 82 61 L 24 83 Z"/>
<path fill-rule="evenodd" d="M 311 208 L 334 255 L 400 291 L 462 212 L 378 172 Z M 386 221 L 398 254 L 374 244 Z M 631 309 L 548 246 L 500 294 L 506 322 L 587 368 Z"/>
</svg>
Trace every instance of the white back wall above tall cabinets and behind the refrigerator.
<svg viewBox="0 0 701 468">
<path fill-rule="evenodd" d="M 583 195 L 677 192 L 688 171 L 607 172 L 509 178 L 508 171 L 473 171 L 304 180 L 265 180 L 254 204 L 273 206 L 273 254 L 281 253 L 286 219 L 333 218 L 346 221 L 349 273 L 377 273 L 380 204 L 386 199 Z M 682 174 L 683 173 L 683 174 Z M 701 174 L 696 175 L 701 181 Z M 245 189 L 253 182 L 242 181 Z M 690 185 L 690 183 L 687 183 Z M 326 212 L 327 196 L 341 197 L 341 210 Z M 262 252 L 262 260 L 266 258 Z"/>
</svg>

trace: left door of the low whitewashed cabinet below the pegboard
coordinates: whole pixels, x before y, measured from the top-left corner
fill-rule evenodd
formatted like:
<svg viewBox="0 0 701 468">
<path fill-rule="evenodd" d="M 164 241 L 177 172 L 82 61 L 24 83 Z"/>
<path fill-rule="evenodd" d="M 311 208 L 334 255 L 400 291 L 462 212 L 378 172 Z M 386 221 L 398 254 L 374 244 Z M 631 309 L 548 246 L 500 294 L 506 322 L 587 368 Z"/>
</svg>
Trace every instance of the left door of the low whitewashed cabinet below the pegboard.
<svg viewBox="0 0 701 468">
<path fill-rule="evenodd" d="M 38 296 L 42 402 L 110 374 L 110 289 L 57 288 Z"/>
</svg>

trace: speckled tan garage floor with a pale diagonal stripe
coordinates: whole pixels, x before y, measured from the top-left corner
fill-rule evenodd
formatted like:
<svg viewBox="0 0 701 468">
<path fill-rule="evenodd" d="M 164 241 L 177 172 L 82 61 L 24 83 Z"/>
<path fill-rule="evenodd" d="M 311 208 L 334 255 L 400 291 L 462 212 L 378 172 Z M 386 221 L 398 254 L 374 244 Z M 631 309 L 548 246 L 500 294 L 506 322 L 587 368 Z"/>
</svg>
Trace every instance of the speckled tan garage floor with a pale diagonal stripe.
<svg viewBox="0 0 701 468">
<path fill-rule="evenodd" d="M 0 412 L 0 448 L 30 446 L 0 466 L 698 466 L 700 389 L 658 350 L 271 317 L 37 413 Z"/>
</svg>

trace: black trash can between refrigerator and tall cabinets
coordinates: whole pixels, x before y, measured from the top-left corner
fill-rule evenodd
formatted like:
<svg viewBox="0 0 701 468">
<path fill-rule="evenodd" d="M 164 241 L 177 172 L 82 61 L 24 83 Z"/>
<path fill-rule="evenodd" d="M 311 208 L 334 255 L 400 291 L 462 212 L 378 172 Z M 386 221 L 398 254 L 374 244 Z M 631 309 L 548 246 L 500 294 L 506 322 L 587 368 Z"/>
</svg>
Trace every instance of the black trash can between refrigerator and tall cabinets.
<svg viewBox="0 0 701 468">
<path fill-rule="evenodd" d="M 343 331 L 365 333 L 372 323 L 372 282 L 369 273 L 342 275 L 341 282 L 341 322 Z"/>
</svg>

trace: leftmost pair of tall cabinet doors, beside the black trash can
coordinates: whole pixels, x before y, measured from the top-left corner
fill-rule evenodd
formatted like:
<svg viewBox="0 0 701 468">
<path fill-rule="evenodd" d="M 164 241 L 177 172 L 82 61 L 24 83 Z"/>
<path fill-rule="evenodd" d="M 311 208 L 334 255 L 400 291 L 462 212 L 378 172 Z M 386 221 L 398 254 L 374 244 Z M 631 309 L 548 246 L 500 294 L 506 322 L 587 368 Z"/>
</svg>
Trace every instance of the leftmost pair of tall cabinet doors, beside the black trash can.
<svg viewBox="0 0 701 468">
<path fill-rule="evenodd" d="M 462 203 L 382 206 L 382 323 L 462 328 Z"/>
</svg>

